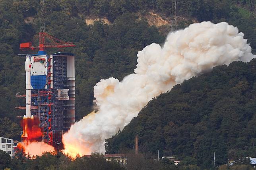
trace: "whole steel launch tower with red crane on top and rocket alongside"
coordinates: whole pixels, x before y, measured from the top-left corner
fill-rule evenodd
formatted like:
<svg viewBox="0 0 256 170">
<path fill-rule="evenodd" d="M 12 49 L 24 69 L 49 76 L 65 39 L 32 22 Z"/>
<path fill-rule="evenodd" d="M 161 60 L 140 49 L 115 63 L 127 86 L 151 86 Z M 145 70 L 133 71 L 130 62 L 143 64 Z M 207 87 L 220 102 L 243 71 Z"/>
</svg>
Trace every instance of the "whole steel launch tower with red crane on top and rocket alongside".
<svg viewBox="0 0 256 170">
<path fill-rule="evenodd" d="M 21 43 L 21 50 L 39 49 L 37 54 L 24 54 L 26 57 L 26 115 L 23 119 L 39 119 L 41 141 L 53 145 L 60 142 L 62 134 L 75 122 L 75 59 L 72 53 L 48 55 L 48 47 L 74 47 L 72 42 L 63 42 L 45 32 L 44 1 L 41 1 L 41 28 L 39 45 L 33 40 Z M 24 134 L 22 138 L 27 138 Z"/>
</svg>

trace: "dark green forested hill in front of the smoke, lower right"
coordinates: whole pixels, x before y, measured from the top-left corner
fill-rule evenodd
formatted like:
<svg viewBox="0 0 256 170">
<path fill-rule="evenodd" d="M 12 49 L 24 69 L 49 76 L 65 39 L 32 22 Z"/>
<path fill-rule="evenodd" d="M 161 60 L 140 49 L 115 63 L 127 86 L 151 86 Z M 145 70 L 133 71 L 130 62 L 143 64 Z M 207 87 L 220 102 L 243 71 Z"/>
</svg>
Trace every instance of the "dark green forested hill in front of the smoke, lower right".
<svg viewBox="0 0 256 170">
<path fill-rule="evenodd" d="M 255 110 L 256 59 L 217 66 L 151 100 L 124 130 L 106 140 L 106 151 L 133 149 L 138 135 L 140 152 L 155 158 L 158 150 L 161 157 L 194 157 L 190 160 L 203 168 L 211 165 L 213 152 L 219 164 L 256 157 Z"/>
</svg>

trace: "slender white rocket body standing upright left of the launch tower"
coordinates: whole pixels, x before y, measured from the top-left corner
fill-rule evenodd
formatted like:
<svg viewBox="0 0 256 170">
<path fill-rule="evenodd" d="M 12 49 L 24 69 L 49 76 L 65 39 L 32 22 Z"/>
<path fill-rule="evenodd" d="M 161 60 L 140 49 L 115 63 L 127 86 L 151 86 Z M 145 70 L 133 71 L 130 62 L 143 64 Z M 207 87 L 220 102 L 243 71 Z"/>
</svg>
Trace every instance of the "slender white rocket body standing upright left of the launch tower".
<svg viewBox="0 0 256 170">
<path fill-rule="evenodd" d="M 29 56 L 25 61 L 26 70 L 26 115 L 25 118 L 31 118 L 31 61 Z"/>
</svg>

